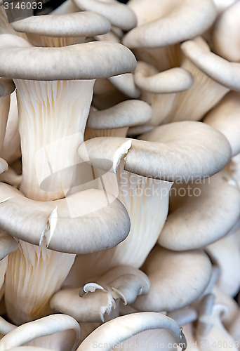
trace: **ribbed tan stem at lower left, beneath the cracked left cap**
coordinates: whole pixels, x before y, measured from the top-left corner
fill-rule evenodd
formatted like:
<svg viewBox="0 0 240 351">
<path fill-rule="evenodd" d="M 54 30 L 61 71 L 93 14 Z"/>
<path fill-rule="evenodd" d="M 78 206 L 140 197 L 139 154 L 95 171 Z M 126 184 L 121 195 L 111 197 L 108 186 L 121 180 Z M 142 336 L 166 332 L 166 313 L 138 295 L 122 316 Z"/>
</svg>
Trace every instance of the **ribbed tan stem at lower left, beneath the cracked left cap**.
<svg viewBox="0 0 240 351">
<path fill-rule="evenodd" d="M 49 301 L 74 263 L 74 254 L 60 253 L 19 241 L 19 248 L 8 256 L 5 303 L 8 317 L 23 324 L 53 313 Z"/>
</svg>

